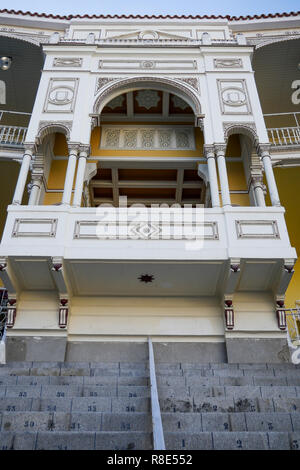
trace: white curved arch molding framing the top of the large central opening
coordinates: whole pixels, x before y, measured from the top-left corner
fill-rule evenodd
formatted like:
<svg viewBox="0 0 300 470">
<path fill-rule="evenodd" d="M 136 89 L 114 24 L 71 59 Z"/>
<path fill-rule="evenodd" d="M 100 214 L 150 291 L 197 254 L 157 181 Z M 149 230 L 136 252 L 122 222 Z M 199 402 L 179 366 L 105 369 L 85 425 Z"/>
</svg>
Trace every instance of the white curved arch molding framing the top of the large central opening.
<svg viewBox="0 0 300 470">
<path fill-rule="evenodd" d="M 144 88 L 160 89 L 174 93 L 191 106 L 196 117 L 203 117 L 199 93 L 190 84 L 184 83 L 180 79 L 156 76 L 116 78 L 113 79 L 113 82 L 104 83 L 102 87 L 98 88 L 93 114 L 100 115 L 104 106 L 121 93 Z"/>
</svg>

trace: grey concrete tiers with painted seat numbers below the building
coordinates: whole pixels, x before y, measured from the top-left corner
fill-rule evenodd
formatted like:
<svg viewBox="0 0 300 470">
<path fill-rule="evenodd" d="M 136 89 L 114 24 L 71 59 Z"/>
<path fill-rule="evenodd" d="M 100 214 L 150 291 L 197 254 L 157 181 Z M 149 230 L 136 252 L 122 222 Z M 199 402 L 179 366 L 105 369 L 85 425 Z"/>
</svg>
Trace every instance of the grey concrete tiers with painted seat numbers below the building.
<svg viewBox="0 0 300 470">
<path fill-rule="evenodd" d="M 300 367 L 156 364 L 166 449 L 300 450 Z M 0 449 L 152 449 L 148 362 L 0 366 Z"/>
</svg>

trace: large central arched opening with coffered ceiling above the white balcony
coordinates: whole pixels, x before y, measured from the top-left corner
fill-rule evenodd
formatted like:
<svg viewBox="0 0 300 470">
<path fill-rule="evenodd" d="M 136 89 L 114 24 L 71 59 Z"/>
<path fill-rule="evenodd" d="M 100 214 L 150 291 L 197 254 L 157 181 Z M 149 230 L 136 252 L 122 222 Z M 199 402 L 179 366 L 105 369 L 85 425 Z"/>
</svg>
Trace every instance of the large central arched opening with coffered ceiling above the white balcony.
<svg viewBox="0 0 300 470">
<path fill-rule="evenodd" d="M 105 84 L 95 100 L 97 125 L 91 158 L 97 173 L 89 184 L 91 205 L 204 204 L 199 176 L 203 132 L 196 83 L 132 78 Z M 99 122 L 98 121 L 98 122 Z M 123 199 L 124 200 L 124 199 Z"/>
</svg>

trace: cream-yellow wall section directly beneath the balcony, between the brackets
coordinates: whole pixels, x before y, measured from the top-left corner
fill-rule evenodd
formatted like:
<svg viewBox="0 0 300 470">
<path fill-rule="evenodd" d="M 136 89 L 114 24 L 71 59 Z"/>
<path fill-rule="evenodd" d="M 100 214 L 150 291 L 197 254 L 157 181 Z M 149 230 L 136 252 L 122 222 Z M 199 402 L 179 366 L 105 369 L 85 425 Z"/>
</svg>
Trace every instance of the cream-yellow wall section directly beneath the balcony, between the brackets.
<svg viewBox="0 0 300 470">
<path fill-rule="evenodd" d="M 223 337 L 214 297 L 73 297 L 68 335 Z"/>
</svg>

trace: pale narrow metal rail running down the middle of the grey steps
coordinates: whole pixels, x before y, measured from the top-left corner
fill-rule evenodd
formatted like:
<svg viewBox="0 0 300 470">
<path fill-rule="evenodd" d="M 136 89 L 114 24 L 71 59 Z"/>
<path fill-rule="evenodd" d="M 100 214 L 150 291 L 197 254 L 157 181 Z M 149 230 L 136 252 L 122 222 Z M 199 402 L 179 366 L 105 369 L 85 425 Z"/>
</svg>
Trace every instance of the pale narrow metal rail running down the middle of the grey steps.
<svg viewBox="0 0 300 470">
<path fill-rule="evenodd" d="M 165 438 L 161 420 L 161 412 L 158 400 L 157 382 L 155 373 L 155 362 L 153 354 L 153 345 L 151 338 L 148 337 L 149 346 L 149 370 L 150 370 L 150 386 L 151 386 L 151 413 L 152 413 L 152 429 L 153 429 L 153 449 L 165 450 Z"/>
</svg>

